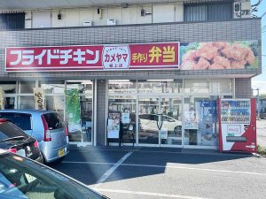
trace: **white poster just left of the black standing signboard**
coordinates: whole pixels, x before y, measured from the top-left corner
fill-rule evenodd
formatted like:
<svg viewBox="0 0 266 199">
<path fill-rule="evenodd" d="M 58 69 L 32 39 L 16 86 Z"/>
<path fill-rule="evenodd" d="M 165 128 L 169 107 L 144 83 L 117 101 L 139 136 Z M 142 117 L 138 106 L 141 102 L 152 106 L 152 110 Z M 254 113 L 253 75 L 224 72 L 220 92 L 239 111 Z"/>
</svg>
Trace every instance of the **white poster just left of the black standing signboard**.
<svg viewBox="0 0 266 199">
<path fill-rule="evenodd" d="M 107 138 L 119 138 L 121 113 L 110 111 L 107 120 Z"/>
</svg>

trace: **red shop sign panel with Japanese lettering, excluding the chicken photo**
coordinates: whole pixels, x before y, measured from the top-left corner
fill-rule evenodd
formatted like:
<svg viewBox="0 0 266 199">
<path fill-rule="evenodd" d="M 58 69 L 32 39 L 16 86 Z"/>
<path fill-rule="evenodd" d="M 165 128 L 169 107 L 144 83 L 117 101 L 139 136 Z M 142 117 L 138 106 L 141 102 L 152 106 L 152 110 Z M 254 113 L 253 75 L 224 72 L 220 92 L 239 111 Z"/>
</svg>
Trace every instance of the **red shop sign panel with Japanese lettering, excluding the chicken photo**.
<svg viewBox="0 0 266 199">
<path fill-rule="evenodd" d="M 179 69 L 179 42 L 12 47 L 6 72 Z"/>
</svg>

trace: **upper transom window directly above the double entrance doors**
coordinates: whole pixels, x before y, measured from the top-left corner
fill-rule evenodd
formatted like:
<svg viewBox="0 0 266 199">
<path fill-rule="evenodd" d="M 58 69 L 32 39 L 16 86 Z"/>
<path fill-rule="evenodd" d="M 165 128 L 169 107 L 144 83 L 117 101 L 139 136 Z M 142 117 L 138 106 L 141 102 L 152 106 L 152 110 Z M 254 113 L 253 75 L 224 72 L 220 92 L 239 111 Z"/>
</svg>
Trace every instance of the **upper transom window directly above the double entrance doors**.
<svg viewBox="0 0 266 199">
<path fill-rule="evenodd" d="M 182 80 L 138 80 L 137 91 L 141 94 L 153 93 L 181 93 Z"/>
</svg>

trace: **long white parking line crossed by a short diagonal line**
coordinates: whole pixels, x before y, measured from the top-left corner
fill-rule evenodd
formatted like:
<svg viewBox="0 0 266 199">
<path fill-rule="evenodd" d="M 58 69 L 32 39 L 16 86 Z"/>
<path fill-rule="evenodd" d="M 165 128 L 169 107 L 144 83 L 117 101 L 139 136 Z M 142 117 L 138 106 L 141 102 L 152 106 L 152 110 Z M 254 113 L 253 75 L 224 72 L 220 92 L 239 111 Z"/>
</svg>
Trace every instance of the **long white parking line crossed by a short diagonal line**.
<svg viewBox="0 0 266 199">
<path fill-rule="evenodd" d="M 128 153 L 129 156 L 132 154 L 132 152 L 129 152 Z M 127 154 L 127 155 L 128 155 Z M 127 156 L 126 155 L 126 156 Z M 125 156 L 125 157 L 126 157 Z M 128 156 L 128 157 L 129 157 Z M 122 157 L 123 158 L 123 157 Z M 122 159 L 121 158 L 121 159 Z M 126 157 L 127 158 L 127 157 Z M 125 158 L 125 159 L 126 159 Z M 124 160 L 125 160 L 124 159 Z M 124 161 L 123 160 L 123 161 Z M 121 160 L 120 160 L 121 161 Z M 171 169 L 187 169 L 187 170 L 196 170 L 196 171 L 207 171 L 207 172 L 230 172 L 230 173 L 240 173 L 240 174 L 250 174 L 250 175 L 262 175 L 262 176 L 266 176 L 266 173 L 262 173 L 262 172 L 236 172 L 236 171 L 230 171 L 230 170 L 219 170 L 219 169 L 203 169 L 203 168 L 195 168 L 195 167 L 185 167 L 185 166 L 171 166 L 171 165 L 137 165 L 137 164 L 119 164 L 118 161 L 117 163 L 96 163 L 96 162 L 72 162 L 72 161 L 63 161 L 62 163 L 66 163 L 66 164 L 84 164 L 84 165 L 113 165 L 113 167 L 110 169 L 112 170 L 114 167 L 115 169 L 118 167 L 118 166 L 143 166 L 143 167 L 155 167 L 155 168 L 171 168 Z M 119 165 L 118 165 L 119 164 Z M 115 170 L 114 169 L 114 170 Z M 113 170 L 113 171 L 114 171 Z M 109 172 L 109 170 L 107 171 Z M 112 172 L 111 172 L 112 173 Z M 106 173 L 105 173 L 106 174 Z M 104 175 L 105 175 L 104 174 Z M 103 175 L 103 176 L 104 176 Z M 103 177 L 102 176 L 102 177 Z"/>
</svg>

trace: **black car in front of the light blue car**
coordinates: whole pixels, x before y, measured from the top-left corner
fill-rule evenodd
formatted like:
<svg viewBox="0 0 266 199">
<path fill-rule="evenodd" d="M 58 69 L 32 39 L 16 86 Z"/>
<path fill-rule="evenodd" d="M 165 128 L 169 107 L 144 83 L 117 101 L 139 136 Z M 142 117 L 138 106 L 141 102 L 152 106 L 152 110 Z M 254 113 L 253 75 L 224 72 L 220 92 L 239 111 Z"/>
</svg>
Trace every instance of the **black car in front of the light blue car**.
<svg viewBox="0 0 266 199">
<path fill-rule="evenodd" d="M 8 119 L 0 119 L 0 149 L 43 163 L 43 156 L 35 138 L 26 134 Z"/>
</svg>

